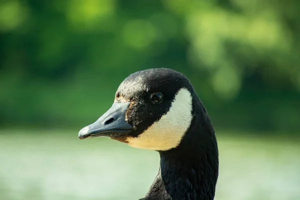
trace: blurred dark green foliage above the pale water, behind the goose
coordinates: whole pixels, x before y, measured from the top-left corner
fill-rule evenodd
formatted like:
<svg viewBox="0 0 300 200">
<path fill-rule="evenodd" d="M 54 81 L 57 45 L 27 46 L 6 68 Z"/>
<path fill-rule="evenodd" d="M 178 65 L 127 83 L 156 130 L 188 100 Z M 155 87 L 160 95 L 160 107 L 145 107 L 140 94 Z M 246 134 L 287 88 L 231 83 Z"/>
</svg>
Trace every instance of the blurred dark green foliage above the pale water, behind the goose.
<svg viewBox="0 0 300 200">
<path fill-rule="evenodd" d="M 168 67 L 216 126 L 298 130 L 298 10 L 296 0 L 0 0 L 0 122 L 85 125 L 128 74 Z"/>
</svg>

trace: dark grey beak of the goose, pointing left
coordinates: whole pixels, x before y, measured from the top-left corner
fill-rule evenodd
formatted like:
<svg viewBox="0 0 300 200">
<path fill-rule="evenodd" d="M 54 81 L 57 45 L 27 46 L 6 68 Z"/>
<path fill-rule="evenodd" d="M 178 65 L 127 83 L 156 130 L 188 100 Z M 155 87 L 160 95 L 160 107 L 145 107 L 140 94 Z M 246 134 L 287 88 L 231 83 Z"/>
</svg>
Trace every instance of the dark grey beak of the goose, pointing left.
<svg viewBox="0 0 300 200">
<path fill-rule="evenodd" d="M 130 102 L 113 103 L 112 106 L 94 123 L 78 132 L 79 139 L 88 137 L 117 137 L 129 134 L 136 128 L 127 123 L 125 113 Z"/>
</svg>

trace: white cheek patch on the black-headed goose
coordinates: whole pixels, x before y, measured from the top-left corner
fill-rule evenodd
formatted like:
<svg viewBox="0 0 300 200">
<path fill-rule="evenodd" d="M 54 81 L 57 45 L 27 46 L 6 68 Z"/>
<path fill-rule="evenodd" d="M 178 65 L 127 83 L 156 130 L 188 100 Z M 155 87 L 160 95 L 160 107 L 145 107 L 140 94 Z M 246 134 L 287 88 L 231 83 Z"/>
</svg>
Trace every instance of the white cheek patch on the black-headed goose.
<svg viewBox="0 0 300 200">
<path fill-rule="evenodd" d="M 191 123 L 191 102 L 190 92 L 181 88 L 175 95 L 169 111 L 137 137 L 128 138 L 127 144 L 151 150 L 168 150 L 176 147 Z"/>
</svg>

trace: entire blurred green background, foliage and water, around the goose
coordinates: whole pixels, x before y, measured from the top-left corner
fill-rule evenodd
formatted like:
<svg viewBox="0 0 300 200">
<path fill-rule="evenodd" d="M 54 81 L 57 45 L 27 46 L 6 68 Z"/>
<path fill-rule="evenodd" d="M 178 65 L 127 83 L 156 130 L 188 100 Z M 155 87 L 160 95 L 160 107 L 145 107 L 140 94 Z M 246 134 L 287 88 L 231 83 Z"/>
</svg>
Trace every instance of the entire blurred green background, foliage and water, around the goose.
<svg viewBox="0 0 300 200">
<path fill-rule="evenodd" d="M 137 70 L 184 73 L 220 199 L 299 199 L 297 0 L 0 0 L 0 199 L 137 199 L 154 151 L 77 132 Z"/>
</svg>

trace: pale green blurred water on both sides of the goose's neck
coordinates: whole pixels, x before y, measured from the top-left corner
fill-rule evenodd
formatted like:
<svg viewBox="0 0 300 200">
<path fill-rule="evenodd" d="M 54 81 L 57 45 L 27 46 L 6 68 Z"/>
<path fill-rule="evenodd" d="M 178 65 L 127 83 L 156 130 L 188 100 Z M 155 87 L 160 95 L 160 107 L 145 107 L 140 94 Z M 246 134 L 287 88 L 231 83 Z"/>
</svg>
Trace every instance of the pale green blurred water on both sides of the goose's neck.
<svg viewBox="0 0 300 200">
<path fill-rule="evenodd" d="M 216 198 L 300 199 L 300 141 L 218 135 Z M 158 170 L 155 151 L 76 131 L 0 131 L 0 199 L 138 199 Z"/>
</svg>

